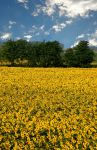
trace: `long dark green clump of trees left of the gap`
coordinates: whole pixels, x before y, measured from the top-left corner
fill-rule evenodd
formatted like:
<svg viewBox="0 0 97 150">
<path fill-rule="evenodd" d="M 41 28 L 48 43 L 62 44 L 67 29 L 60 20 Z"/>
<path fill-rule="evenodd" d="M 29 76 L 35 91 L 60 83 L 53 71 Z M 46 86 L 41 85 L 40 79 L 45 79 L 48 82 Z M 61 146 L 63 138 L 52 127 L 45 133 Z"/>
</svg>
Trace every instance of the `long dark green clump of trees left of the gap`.
<svg viewBox="0 0 97 150">
<path fill-rule="evenodd" d="M 2 53 L 11 65 L 27 60 L 28 66 L 58 67 L 62 65 L 62 51 L 63 48 L 58 41 L 27 42 L 20 39 L 5 42 Z"/>
</svg>

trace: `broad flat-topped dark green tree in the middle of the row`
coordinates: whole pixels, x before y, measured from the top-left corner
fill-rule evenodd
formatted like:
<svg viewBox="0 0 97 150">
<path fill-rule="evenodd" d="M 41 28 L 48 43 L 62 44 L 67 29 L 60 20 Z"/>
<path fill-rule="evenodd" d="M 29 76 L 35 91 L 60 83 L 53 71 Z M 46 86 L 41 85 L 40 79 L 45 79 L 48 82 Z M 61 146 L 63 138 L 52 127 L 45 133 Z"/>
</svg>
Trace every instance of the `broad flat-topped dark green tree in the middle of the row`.
<svg viewBox="0 0 97 150">
<path fill-rule="evenodd" d="M 59 42 L 31 42 L 28 50 L 28 62 L 31 66 L 58 67 L 62 64 L 62 46 Z"/>
</svg>

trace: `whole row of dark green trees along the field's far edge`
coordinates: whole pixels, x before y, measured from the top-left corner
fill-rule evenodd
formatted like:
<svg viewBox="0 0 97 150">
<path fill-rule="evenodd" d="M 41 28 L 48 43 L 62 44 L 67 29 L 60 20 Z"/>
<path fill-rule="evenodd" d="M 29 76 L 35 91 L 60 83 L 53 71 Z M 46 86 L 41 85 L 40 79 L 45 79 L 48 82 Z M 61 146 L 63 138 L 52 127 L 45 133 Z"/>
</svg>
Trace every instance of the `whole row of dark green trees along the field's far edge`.
<svg viewBox="0 0 97 150">
<path fill-rule="evenodd" d="M 94 60 L 94 52 L 88 41 L 80 41 L 75 47 L 64 50 L 58 41 L 8 40 L 0 46 L 0 60 L 11 66 L 88 67 Z"/>
</svg>

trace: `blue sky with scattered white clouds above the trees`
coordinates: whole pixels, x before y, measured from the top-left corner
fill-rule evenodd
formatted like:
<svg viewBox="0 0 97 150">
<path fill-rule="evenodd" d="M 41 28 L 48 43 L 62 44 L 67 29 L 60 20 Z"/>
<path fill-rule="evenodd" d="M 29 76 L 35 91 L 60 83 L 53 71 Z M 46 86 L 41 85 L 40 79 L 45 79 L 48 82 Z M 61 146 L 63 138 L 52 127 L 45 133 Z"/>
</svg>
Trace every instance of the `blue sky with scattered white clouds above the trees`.
<svg viewBox="0 0 97 150">
<path fill-rule="evenodd" d="M 8 39 L 97 46 L 97 0 L 0 0 L 0 42 Z"/>
</svg>

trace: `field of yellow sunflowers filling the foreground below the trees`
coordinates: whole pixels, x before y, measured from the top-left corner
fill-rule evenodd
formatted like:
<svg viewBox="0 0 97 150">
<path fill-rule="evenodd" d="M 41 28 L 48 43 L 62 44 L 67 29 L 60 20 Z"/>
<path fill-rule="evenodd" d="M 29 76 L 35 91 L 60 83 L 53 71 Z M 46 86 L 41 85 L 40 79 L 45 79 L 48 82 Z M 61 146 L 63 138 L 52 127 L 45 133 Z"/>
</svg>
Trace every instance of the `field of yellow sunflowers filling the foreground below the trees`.
<svg viewBox="0 0 97 150">
<path fill-rule="evenodd" d="M 97 68 L 0 67 L 1 150 L 97 150 Z"/>
</svg>

